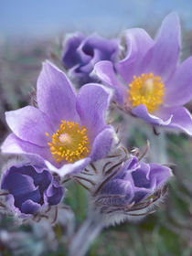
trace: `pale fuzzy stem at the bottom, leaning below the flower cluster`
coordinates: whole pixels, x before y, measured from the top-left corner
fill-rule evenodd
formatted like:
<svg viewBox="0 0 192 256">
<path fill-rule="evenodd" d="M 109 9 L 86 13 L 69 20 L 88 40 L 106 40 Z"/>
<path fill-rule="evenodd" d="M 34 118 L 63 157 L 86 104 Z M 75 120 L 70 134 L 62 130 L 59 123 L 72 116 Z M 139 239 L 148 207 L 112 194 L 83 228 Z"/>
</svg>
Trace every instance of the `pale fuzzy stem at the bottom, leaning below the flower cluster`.
<svg viewBox="0 0 192 256">
<path fill-rule="evenodd" d="M 101 220 L 94 214 L 85 219 L 69 244 L 69 256 L 84 256 L 102 229 Z"/>
</svg>

